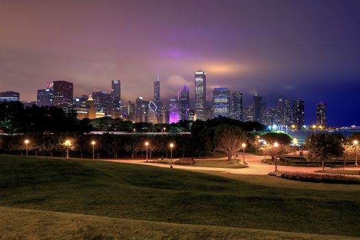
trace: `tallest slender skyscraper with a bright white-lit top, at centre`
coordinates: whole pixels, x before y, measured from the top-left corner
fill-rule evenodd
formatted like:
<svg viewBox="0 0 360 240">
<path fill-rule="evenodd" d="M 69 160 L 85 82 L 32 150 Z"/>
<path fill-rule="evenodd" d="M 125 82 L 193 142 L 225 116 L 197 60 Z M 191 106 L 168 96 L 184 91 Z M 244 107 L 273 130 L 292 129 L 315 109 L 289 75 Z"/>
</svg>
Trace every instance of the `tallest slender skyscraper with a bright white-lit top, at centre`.
<svg viewBox="0 0 360 240">
<path fill-rule="evenodd" d="M 195 115 L 206 121 L 206 73 L 195 71 Z"/>
</svg>

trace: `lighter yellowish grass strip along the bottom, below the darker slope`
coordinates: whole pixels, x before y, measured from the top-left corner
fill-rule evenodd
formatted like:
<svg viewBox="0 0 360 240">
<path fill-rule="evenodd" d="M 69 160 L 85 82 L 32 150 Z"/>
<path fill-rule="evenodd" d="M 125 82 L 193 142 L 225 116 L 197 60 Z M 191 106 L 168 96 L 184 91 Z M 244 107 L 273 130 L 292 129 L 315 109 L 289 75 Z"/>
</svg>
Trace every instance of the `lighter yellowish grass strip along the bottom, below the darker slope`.
<svg viewBox="0 0 360 240">
<path fill-rule="evenodd" d="M 0 207 L 0 239 L 300 239 L 351 240 L 352 237 L 294 232 L 169 224 L 74 213 Z M 11 231 L 9 226 L 12 227 Z"/>
</svg>

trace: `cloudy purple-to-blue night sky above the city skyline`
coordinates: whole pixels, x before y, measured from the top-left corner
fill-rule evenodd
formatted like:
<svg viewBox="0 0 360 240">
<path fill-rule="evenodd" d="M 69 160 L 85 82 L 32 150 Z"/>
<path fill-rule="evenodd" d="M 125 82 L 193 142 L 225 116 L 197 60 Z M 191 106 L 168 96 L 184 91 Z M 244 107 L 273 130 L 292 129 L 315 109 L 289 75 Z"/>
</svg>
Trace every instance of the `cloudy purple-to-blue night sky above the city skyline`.
<svg viewBox="0 0 360 240">
<path fill-rule="evenodd" d="M 306 123 L 315 103 L 329 125 L 360 125 L 360 1 L 330 0 L 0 0 L 0 91 L 36 100 L 52 80 L 74 83 L 75 95 L 110 91 L 122 100 L 153 97 L 157 71 L 163 101 L 194 71 L 214 87 L 302 97 Z M 167 102 L 167 101 L 166 101 Z"/>
</svg>

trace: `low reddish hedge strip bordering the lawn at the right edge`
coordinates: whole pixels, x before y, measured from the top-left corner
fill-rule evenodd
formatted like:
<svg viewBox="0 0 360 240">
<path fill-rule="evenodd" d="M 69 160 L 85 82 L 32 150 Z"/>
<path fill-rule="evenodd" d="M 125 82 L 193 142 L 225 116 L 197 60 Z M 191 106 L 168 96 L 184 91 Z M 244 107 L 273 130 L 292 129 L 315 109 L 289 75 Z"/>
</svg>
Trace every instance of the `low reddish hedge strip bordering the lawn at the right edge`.
<svg viewBox="0 0 360 240">
<path fill-rule="evenodd" d="M 302 171 L 272 171 L 269 172 L 267 175 L 302 182 L 360 184 L 360 178 L 335 174 L 305 173 Z"/>
</svg>

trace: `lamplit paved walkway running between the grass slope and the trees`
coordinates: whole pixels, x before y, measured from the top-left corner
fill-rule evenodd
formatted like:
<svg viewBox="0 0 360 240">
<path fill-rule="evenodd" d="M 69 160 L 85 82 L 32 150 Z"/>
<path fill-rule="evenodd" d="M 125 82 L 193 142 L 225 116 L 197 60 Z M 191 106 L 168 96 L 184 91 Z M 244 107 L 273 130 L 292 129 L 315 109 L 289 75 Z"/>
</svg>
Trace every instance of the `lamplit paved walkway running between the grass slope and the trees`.
<svg viewBox="0 0 360 240">
<path fill-rule="evenodd" d="M 274 171 L 274 165 L 268 165 L 265 163 L 261 163 L 263 156 L 257 156 L 252 154 L 245 154 L 245 162 L 248 163 L 249 167 L 241 168 L 241 169 L 232 169 L 232 168 L 222 168 L 222 167 L 195 167 L 195 166 L 183 166 L 183 165 L 173 165 L 174 169 L 184 169 L 184 170 L 200 170 L 200 171 L 221 171 L 233 174 L 252 174 L 252 175 L 266 175 L 269 171 Z M 227 158 L 217 158 L 224 159 L 226 161 Z M 206 159 L 202 159 L 206 160 Z M 210 159 L 209 159 L 210 160 Z M 167 167 L 169 165 L 159 164 L 159 163 L 145 163 L 145 160 L 106 160 L 115 163 L 133 163 L 133 164 L 142 164 L 142 165 L 150 165 L 155 167 Z M 278 166 L 278 170 L 283 171 L 304 171 L 304 172 L 313 172 L 317 170 L 321 170 L 321 167 L 289 167 L 289 166 Z M 329 168 L 326 168 L 329 169 Z M 346 167 L 346 170 L 355 169 L 355 167 Z M 359 168 L 356 168 L 359 169 Z"/>
</svg>

